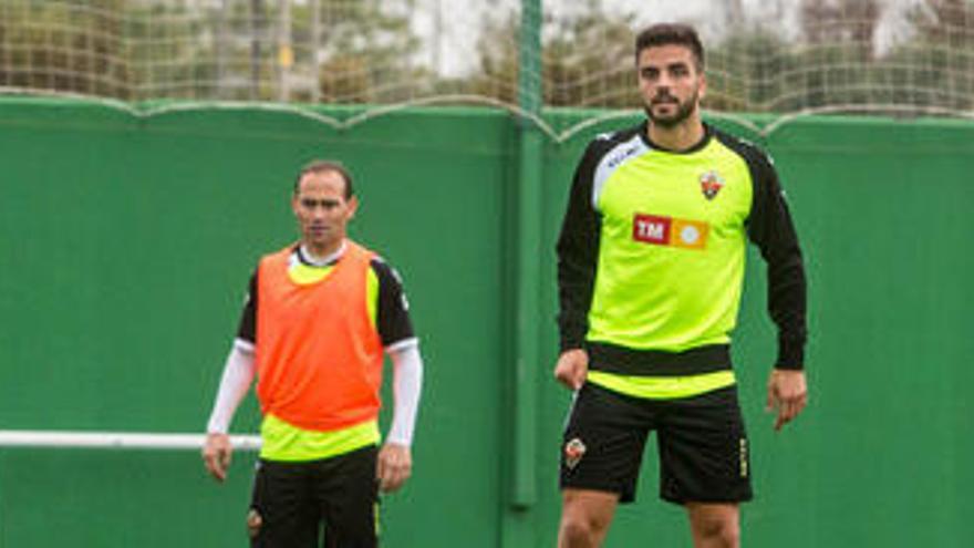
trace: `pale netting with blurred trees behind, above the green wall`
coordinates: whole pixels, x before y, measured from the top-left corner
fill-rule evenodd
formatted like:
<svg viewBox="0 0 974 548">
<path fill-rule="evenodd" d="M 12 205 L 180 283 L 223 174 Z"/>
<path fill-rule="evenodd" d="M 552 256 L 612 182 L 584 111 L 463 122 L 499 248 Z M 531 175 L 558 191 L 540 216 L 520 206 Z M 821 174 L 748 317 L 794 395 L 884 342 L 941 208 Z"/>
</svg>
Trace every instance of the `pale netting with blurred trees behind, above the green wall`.
<svg viewBox="0 0 974 548">
<path fill-rule="evenodd" d="M 520 25 L 546 112 L 639 106 L 632 42 L 696 24 L 714 113 L 972 116 L 968 0 L 0 0 L 0 90 L 146 101 L 479 102 L 517 111 Z M 527 7 L 527 8 L 525 8 Z M 530 59 L 530 58 L 528 58 Z M 524 80 L 521 80 L 522 82 Z M 525 113 L 521 113 L 525 114 Z M 538 118 L 543 124 L 543 113 Z M 557 124 L 556 124 L 557 125 Z M 546 125 L 549 132 L 564 128 Z"/>
</svg>

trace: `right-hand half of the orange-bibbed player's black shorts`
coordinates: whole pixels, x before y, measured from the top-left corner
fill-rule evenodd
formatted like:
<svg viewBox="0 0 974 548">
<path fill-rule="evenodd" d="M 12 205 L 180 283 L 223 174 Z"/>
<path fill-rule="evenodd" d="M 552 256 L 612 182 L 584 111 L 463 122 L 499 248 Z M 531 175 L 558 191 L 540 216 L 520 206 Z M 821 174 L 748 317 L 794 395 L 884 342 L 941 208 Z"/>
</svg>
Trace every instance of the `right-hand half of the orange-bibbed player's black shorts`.
<svg viewBox="0 0 974 548">
<path fill-rule="evenodd" d="M 379 537 L 379 482 L 374 445 L 322 462 L 315 494 L 325 524 L 325 546 L 372 548 Z"/>
</svg>

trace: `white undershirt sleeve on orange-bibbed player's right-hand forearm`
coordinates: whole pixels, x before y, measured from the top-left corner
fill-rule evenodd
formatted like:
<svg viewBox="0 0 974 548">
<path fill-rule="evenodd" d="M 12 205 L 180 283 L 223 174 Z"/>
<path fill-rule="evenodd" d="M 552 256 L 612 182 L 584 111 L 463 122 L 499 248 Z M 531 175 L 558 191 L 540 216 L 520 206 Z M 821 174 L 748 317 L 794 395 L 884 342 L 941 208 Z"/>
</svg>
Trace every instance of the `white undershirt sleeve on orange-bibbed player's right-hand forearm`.
<svg viewBox="0 0 974 548">
<path fill-rule="evenodd" d="M 408 344 L 386 349 L 393 363 L 393 404 L 392 426 L 386 443 L 410 446 L 413 443 L 413 430 L 416 425 L 416 412 L 419 407 L 419 392 L 423 387 L 423 359 L 419 345 Z"/>
</svg>

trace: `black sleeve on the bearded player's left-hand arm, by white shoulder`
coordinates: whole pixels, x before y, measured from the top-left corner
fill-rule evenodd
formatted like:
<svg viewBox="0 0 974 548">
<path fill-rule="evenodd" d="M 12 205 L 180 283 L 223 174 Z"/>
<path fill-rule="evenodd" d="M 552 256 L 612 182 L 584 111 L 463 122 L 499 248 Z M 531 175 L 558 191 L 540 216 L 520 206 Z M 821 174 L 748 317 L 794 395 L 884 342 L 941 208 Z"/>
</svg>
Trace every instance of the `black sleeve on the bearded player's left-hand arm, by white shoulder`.
<svg viewBox="0 0 974 548">
<path fill-rule="evenodd" d="M 561 351 L 578 349 L 589 330 L 602 219 L 592 206 L 592 185 L 599 163 L 599 141 L 579 162 L 561 223 L 558 254 L 558 330 Z"/>
</svg>

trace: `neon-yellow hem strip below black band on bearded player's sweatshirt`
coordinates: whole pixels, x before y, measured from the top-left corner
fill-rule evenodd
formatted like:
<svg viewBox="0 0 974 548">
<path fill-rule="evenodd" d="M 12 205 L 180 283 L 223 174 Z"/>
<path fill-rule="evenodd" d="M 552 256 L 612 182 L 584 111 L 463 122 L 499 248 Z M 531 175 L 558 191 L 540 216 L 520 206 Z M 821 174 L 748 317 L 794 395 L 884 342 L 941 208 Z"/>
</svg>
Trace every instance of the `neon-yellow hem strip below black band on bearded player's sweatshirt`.
<svg viewBox="0 0 974 548">
<path fill-rule="evenodd" d="M 633 397 L 675 400 L 733 386 L 737 381 L 734 371 L 726 370 L 687 376 L 616 375 L 604 371 L 589 371 L 588 382 Z"/>
</svg>

